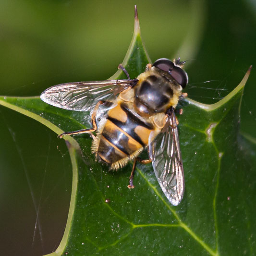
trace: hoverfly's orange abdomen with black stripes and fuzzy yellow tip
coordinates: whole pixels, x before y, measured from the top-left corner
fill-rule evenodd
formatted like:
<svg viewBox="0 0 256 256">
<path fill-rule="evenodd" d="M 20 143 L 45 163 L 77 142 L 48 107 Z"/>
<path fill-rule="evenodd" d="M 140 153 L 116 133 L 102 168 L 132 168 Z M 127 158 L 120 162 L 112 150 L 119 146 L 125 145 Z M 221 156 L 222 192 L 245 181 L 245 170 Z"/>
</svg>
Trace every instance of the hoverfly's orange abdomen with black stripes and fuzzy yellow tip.
<svg viewBox="0 0 256 256">
<path fill-rule="evenodd" d="M 118 169 L 140 154 L 152 130 L 151 123 L 143 122 L 122 102 L 108 112 L 97 155 L 111 164 L 111 169 Z"/>
</svg>

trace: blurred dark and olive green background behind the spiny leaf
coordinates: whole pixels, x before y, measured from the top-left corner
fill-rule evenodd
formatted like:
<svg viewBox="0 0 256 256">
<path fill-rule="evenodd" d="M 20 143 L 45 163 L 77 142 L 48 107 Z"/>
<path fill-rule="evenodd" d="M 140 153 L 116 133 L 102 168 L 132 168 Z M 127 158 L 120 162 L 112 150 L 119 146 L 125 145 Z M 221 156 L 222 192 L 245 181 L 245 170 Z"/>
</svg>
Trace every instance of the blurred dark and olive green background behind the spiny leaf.
<svg viewBox="0 0 256 256">
<path fill-rule="evenodd" d="M 151 60 L 179 54 L 188 60 L 190 98 L 217 102 L 256 67 L 254 0 L 0 0 L 0 95 L 36 96 L 51 85 L 110 77 L 132 38 L 134 4 Z M 255 82 L 253 68 L 241 128 L 254 138 Z M 58 247 L 71 181 L 64 141 L 0 107 L 1 255 L 43 255 Z"/>
</svg>

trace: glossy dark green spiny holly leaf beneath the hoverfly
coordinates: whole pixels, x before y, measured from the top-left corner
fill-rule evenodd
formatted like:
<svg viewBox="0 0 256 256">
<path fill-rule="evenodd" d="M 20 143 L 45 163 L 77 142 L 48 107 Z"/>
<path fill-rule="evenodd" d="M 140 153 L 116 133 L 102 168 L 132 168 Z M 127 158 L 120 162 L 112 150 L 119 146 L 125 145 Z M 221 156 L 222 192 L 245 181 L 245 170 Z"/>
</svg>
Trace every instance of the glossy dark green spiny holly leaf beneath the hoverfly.
<svg viewBox="0 0 256 256">
<path fill-rule="evenodd" d="M 123 61 L 131 78 L 150 62 L 135 16 L 134 35 Z M 241 255 L 256 253 L 256 146 L 239 134 L 245 82 L 213 105 L 189 98 L 177 108 L 185 194 L 174 207 L 151 165 L 118 172 L 95 161 L 88 134 L 65 136 L 73 166 L 66 229 L 54 255 Z M 122 79 L 117 71 L 111 79 Z M 0 104 L 61 134 L 85 129 L 89 113 L 62 110 L 39 97 L 0 97 Z M 53 170 L 54 171 L 54 170 Z"/>
</svg>

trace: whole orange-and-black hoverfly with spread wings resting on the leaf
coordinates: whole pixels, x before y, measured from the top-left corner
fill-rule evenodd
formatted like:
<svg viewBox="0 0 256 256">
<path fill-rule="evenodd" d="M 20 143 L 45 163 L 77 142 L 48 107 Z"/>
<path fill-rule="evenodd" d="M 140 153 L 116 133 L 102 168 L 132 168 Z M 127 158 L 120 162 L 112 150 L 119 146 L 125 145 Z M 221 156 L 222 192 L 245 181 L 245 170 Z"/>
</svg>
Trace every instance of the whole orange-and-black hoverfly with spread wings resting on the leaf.
<svg viewBox="0 0 256 256">
<path fill-rule="evenodd" d="M 136 161 L 152 162 L 162 191 L 177 206 L 183 198 L 184 175 L 174 110 L 179 99 L 187 96 L 182 93 L 188 83 L 183 63 L 180 58 L 158 59 L 135 79 L 120 64 L 127 79 L 55 85 L 40 98 L 58 108 L 90 111 L 92 128 L 59 137 L 89 133 L 92 152 L 112 170 L 134 160 L 129 188 L 134 188 Z M 149 159 L 142 160 L 138 155 L 146 147 Z"/>
</svg>

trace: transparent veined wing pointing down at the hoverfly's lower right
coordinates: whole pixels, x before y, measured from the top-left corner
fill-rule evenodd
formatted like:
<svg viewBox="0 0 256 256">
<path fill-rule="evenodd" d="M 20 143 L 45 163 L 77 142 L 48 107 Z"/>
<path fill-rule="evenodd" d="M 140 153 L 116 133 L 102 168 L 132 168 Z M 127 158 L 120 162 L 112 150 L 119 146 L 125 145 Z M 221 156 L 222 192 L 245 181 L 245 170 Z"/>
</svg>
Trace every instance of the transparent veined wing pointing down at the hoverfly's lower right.
<svg viewBox="0 0 256 256">
<path fill-rule="evenodd" d="M 158 183 L 171 204 L 177 206 L 183 198 L 184 175 L 174 111 L 154 140 L 152 154 Z"/>
</svg>

